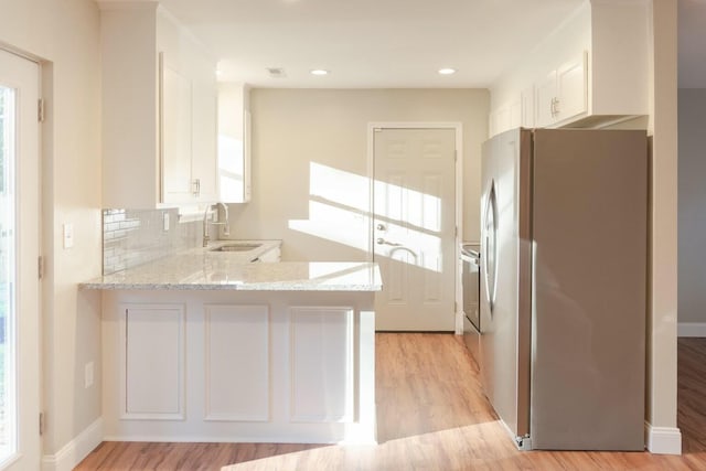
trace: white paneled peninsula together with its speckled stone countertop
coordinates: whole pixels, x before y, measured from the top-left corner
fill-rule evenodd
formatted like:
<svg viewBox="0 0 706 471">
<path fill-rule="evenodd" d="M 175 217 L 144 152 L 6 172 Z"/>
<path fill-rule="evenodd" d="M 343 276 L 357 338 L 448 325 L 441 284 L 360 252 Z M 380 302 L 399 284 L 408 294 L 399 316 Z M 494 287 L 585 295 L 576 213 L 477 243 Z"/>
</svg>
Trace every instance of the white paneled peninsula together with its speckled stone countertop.
<svg viewBox="0 0 706 471">
<path fill-rule="evenodd" d="M 103 290 L 105 439 L 375 442 L 377 266 L 227 257 L 82 285 Z"/>
</svg>

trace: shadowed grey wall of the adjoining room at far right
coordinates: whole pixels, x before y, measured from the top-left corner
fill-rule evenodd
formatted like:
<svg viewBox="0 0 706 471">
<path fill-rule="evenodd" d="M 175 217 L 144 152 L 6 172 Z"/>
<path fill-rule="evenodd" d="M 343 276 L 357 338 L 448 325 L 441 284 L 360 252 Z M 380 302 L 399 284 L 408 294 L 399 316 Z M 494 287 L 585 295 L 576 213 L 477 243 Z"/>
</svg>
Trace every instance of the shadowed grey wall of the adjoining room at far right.
<svg viewBox="0 0 706 471">
<path fill-rule="evenodd" d="M 706 88 L 678 90 L 680 322 L 706 322 Z"/>
</svg>

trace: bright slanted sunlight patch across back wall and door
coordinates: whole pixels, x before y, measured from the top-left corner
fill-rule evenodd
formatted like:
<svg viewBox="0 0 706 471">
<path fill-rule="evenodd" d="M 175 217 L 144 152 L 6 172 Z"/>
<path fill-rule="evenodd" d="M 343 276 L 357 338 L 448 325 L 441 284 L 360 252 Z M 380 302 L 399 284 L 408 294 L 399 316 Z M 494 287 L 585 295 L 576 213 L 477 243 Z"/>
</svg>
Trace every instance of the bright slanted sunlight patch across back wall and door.
<svg viewBox="0 0 706 471">
<path fill-rule="evenodd" d="M 289 228 L 363 251 L 374 247 L 385 257 L 438 272 L 442 250 L 441 200 L 405 186 L 404 175 L 392 183 L 374 182 L 374 221 L 371 180 L 317 162 L 309 167 L 309 218 L 290 220 Z M 425 182 L 435 191 L 436 182 Z M 371 227 L 375 225 L 371 240 Z"/>
</svg>

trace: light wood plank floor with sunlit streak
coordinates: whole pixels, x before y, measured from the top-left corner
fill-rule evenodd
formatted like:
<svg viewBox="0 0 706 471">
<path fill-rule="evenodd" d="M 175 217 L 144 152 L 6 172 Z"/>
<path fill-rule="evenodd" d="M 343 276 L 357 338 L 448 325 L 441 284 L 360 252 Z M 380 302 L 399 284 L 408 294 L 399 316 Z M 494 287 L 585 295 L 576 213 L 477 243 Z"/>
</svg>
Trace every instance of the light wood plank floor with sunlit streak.
<svg viewBox="0 0 706 471">
<path fill-rule="evenodd" d="M 377 446 L 104 442 L 76 470 L 706 469 L 706 339 L 680 339 L 682 457 L 517 451 L 459 338 L 382 333 L 376 349 Z"/>
</svg>

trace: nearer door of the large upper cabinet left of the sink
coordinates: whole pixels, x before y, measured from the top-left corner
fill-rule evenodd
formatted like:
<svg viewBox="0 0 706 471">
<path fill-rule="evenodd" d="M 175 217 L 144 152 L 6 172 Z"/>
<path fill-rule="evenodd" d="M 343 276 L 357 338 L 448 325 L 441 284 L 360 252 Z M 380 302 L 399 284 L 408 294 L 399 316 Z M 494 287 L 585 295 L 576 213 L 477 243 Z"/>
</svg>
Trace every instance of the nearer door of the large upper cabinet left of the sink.
<svg viewBox="0 0 706 471">
<path fill-rule="evenodd" d="M 162 67 L 162 202 L 192 197 L 191 182 L 191 81 Z"/>
</svg>

